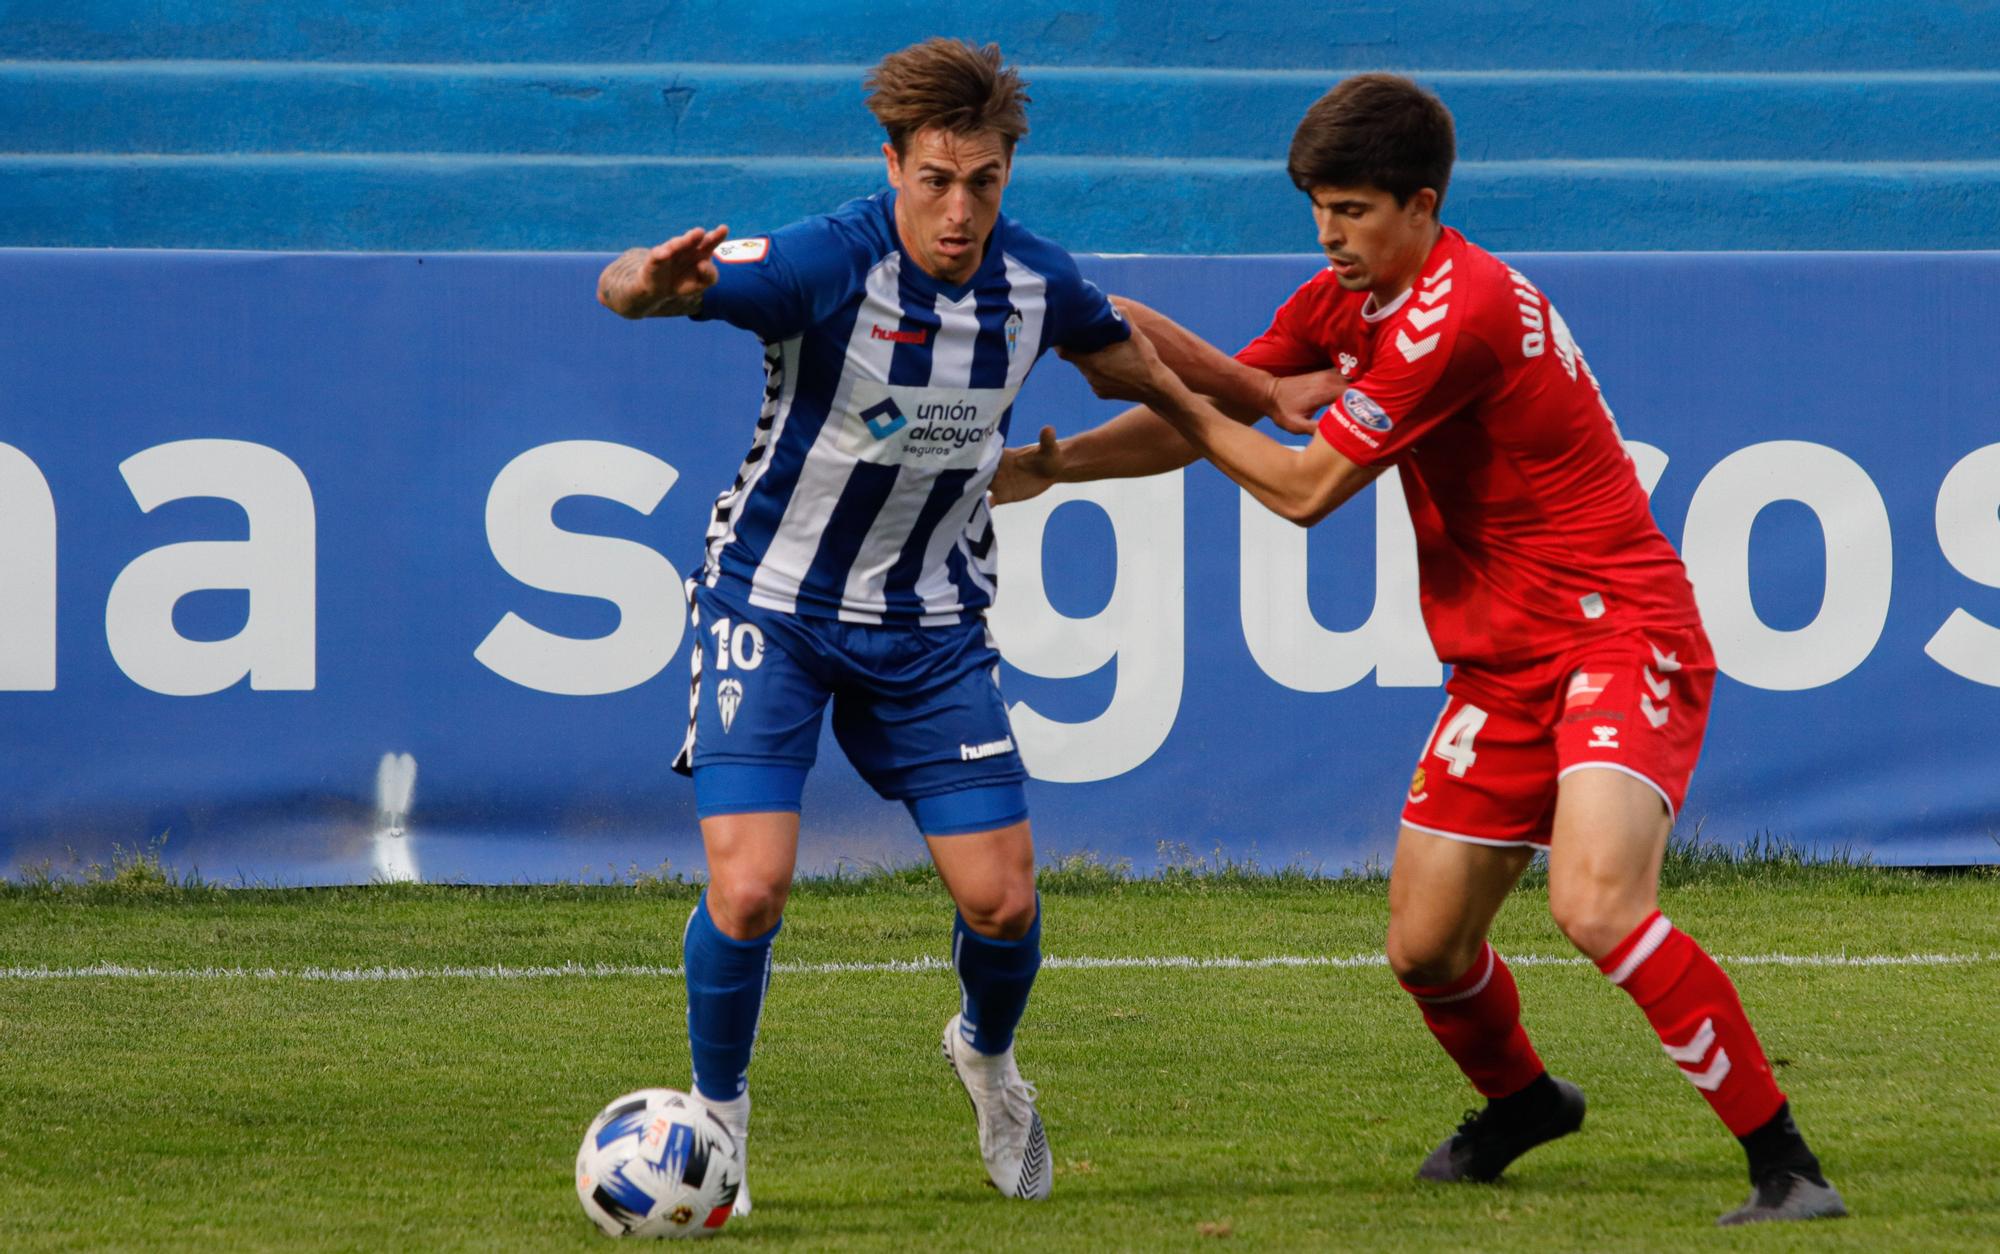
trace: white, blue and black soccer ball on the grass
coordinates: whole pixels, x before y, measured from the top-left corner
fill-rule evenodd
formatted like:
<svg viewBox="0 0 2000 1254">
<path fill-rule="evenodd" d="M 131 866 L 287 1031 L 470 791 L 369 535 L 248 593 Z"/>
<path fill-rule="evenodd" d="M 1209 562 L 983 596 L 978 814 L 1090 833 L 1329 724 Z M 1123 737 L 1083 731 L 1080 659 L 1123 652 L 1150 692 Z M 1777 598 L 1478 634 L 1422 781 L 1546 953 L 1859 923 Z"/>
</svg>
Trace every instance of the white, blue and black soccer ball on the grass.
<svg viewBox="0 0 2000 1254">
<path fill-rule="evenodd" d="M 576 1150 L 576 1200 L 608 1236 L 712 1236 L 742 1180 L 736 1136 L 672 1088 L 614 1100 Z"/>
</svg>

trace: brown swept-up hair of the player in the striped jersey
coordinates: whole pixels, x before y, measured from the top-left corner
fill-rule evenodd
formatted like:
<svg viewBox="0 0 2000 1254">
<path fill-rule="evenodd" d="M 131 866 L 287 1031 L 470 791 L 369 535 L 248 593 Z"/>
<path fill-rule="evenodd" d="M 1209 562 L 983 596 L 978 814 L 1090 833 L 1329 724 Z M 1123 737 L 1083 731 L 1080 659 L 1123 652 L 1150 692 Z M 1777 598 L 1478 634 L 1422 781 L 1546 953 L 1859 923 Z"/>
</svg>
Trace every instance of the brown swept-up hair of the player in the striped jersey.
<svg viewBox="0 0 2000 1254">
<path fill-rule="evenodd" d="M 898 156 L 910 136 L 930 126 L 952 134 L 992 130 L 1006 144 L 1028 134 L 1028 84 L 1000 64 L 1000 44 L 974 48 L 964 40 L 928 38 L 890 52 L 862 80 Z"/>
</svg>

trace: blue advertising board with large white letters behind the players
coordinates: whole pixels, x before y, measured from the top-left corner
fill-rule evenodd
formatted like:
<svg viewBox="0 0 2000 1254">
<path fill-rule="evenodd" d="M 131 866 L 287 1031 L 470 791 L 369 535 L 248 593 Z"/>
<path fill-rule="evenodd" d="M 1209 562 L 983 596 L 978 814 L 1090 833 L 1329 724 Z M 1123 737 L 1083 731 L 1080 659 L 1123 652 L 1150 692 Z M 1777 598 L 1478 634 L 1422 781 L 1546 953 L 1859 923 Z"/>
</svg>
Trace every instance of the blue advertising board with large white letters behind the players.
<svg viewBox="0 0 2000 1254">
<path fill-rule="evenodd" d="M 2000 860 L 2000 254 L 1510 260 L 1716 644 L 1682 834 Z M 602 262 L 0 252 L 0 872 L 700 870 L 680 584 L 760 350 Z M 1084 268 L 1236 346 L 1314 260 Z M 1014 440 L 1110 412 L 1046 358 Z M 1206 466 L 998 520 L 1044 858 L 1386 860 L 1444 678 L 1394 476 L 1312 532 Z M 828 738 L 802 866 L 920 856 Z"/>
</svg>

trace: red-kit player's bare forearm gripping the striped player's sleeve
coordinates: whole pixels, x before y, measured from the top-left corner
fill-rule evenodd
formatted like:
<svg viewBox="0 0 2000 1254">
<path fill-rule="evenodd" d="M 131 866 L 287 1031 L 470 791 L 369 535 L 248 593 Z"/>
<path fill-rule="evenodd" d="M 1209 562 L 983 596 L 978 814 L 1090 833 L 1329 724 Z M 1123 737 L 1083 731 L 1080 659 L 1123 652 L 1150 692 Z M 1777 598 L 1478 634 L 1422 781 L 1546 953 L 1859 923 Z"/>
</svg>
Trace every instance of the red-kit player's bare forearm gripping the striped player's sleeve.
<svg viewBox="0 0 2000 1254">
<path fill-rule="evenodd" d="M 1350 462 L 1326 440 L 1294 450 L 1232 422 L 1162 366 L 1136 324 L 1124 344 L 1064 356 L 1082 370 L 1098 396 L 1146 404 L 1264 508 L 1300 526 L 1326 518 L 1382 472 L 1378 466 Z"/>
</svg>

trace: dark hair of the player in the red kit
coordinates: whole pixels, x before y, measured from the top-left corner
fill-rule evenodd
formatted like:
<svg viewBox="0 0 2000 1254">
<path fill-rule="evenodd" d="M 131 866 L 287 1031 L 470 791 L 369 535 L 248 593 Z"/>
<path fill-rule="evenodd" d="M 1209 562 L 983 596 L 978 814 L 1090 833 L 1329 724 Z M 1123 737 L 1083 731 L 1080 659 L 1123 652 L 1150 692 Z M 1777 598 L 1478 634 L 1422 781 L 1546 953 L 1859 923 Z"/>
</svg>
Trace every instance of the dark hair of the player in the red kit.
<svg viewBox="0 0 2000 1254">
<path fill-rule="evenodd" d="M 1374 186 L 1408 204 L 1452 182 L 1452 110 L 1400 74 L 1356 74 L 1306 110 L 1286 172 L 1300 192 Z"/>
</svg>

